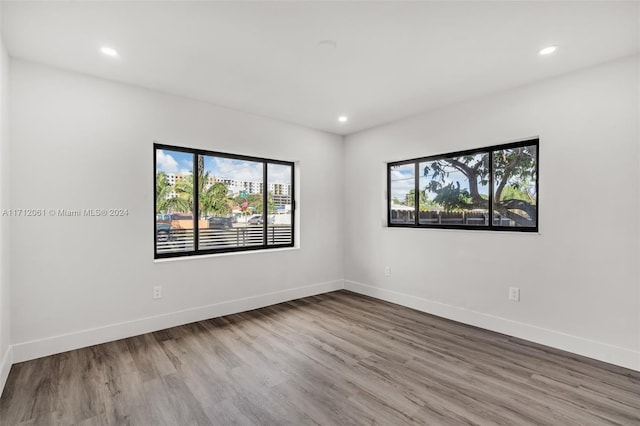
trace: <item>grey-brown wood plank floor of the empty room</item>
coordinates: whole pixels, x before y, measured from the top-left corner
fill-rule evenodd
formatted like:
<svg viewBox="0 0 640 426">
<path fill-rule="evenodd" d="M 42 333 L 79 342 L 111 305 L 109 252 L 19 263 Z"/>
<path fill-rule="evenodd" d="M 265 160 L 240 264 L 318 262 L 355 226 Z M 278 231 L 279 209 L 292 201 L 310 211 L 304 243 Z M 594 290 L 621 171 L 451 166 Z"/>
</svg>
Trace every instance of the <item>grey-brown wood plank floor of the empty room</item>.
<svg viewBox="0 0 640 426">
<path fill-rule="evenodd" d="M 640 373 L 338 291 L 12 367 L 4 425 L 640 425 Z"/>
</svg>

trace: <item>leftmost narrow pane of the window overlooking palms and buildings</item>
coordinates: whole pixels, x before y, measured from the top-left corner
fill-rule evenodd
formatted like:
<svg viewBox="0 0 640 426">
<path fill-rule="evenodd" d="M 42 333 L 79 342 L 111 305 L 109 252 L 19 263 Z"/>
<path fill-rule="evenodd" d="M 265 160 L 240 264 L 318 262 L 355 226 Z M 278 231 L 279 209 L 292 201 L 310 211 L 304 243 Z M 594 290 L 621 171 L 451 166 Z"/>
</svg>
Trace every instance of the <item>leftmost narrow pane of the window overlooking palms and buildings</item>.
<svg viewBox="0 0 640 426">
<path fill-rule="evenodd" d="M 194 250 L 193 154 L 156 149 L 156 252 Z"/>
</svg>

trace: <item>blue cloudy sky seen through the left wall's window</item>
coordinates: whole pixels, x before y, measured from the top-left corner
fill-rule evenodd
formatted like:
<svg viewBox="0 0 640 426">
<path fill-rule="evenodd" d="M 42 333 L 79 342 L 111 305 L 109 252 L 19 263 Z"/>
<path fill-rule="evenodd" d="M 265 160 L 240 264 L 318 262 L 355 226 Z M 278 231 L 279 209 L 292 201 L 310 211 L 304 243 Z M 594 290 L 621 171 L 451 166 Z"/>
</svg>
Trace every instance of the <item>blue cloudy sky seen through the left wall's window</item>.
<svg viewBox="0 0 640 426">
<path fill-rule="evenodd" d="M 234 160 L 222 157 L 204 157 L 204 169 L 217 178 L 247 182 L 261 182 L 262 163 Z M 191 173 L 193 155 L 179 151 L 157 150 L 156 172 Z M 280 164 L 268 165 L 269 183 L 291 183 L 291 167 Z"/>
</svg>

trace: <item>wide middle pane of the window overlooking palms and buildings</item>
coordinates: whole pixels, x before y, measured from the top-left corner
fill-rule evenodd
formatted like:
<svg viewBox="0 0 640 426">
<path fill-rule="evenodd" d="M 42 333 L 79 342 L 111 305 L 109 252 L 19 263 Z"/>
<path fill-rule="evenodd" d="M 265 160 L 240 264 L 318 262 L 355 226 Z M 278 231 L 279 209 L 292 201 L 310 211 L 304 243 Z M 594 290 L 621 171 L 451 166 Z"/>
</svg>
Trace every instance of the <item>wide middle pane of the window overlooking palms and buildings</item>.
<svg viewBox="0 0 640 426">
<path fill-rule="evenodd" d="M 264 244 L 263 164 L 198 156 L 199 250 Z"/>
</svg>

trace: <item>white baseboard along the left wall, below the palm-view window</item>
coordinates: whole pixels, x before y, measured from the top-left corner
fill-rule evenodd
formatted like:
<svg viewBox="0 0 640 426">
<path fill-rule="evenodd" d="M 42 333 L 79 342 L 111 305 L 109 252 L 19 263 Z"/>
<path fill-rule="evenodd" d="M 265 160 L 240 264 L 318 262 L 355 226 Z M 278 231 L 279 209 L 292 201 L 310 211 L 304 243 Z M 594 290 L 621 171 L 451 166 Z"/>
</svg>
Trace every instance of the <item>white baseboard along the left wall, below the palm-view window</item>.
<svg viewBox="0 0 640 426">
<path fill-rule="evenodd" d="M 252 309 L 263 308 L 265 306 L 275 305 L 289 300 L 301 299 L 303 297 L 313 296 L 316 294 L 328 293 L 330 291 L 341 290 L 343 288 L 343 280 L 329 281 L 273 293 L 265 293 L 243 299 L 215 303 L 207 306 L 199 306 L 196 308 L 147 318 L 140 318 L 133 321 L 110 324 L 104 327 L 80 330 L 73 333 L 32 340 L 30 342 L 17 343 L 12 346 L 13 362 L 28 361 L 47 355 L 111 342 L 195 321 L 202 321 L 223 315 L 250 311 Z M 9 366 L 11 366 L 11 363 L 9 363 Z M 4 370 L 2 371 L 4 372 Z"/>
</svg>

